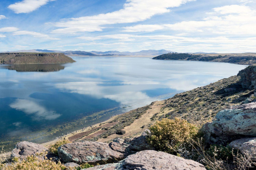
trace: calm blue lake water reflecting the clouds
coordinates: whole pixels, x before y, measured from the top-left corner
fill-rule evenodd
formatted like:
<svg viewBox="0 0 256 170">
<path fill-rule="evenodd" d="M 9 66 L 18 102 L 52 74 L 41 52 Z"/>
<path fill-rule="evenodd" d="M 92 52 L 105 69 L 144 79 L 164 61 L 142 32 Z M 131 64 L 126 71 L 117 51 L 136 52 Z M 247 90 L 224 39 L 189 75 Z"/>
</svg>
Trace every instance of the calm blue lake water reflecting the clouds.
<svg viewBox="0 0 256 170">
<path fill-rule="evenodd" d="M 72 58 L 77 62 L 0 65 L 0 147 L 46 142 L 246 67 L 149 57 Z"/>
</svg>

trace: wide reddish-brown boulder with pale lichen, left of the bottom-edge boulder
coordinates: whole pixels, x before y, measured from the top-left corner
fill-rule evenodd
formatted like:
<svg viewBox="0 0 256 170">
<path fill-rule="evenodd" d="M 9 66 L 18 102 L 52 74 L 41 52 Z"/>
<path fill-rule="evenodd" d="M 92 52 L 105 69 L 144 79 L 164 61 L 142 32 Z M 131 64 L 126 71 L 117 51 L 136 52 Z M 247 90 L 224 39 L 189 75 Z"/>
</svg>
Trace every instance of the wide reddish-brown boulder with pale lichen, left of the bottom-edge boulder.
<svg viewBox="0 0 256 170">
<path fill-rule="evenodd" d="M 109 144 L 102 142 L 75 142 L 68 143 L 58 148 L 60 160 L 64 163 L 75 162 L 77 164 L 103 164 L 121 160 L 124 154 L 113 150 Z"/>
</svg>

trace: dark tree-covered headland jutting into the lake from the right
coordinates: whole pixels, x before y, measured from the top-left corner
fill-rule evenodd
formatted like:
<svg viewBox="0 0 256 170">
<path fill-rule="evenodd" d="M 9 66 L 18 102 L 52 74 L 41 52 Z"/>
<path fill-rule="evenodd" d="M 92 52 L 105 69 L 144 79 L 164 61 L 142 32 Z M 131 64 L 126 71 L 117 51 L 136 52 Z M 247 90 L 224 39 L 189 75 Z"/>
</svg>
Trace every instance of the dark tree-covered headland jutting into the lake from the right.
<svg viewBox="0 0 256 170">
<path fill-rule="evenodd" d="M 191 60 L 228 62 L 241 65 L 251 65 L 256 63 L 256 53 L 232 53 L 232 54 L 188 54 L 188 53 L 168 53 L 162 54 L 153 59 L 158 60 Z"/>
</svg>

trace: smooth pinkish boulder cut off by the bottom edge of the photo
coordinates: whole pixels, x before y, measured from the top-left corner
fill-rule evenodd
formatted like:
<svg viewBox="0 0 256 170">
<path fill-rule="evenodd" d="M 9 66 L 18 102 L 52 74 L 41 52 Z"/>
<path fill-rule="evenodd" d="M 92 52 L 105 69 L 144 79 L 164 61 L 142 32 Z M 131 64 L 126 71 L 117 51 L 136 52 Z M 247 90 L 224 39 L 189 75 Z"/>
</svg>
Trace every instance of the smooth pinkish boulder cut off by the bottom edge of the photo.
<svg viewBox="0 0 256 170">
<path fill-rule="evenodd" d="M 124 160 L 106 165 L 99 165 L 86 170 L 206 170 L 193 160 L 187 160 L 165 152 L 144 150 L 130 155 Z"/>
</svg>

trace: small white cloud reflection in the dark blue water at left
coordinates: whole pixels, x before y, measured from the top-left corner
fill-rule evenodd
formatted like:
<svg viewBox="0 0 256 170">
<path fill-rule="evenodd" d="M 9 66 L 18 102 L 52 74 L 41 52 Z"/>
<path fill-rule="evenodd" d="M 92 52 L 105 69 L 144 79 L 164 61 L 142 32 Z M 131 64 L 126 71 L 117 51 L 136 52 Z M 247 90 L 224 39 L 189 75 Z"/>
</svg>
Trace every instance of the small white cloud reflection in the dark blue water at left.
<svg viewBox="0 0 256 170">
<path fill-rule="evenodd" d="M 54 120 L 61 116 L 55 111 L 48 111 L 37 103 L 25 99 L 16 99 L 14 103 L 10 104 L 10 107 L 32 115 L 35 120 Z"/>
</svg>

